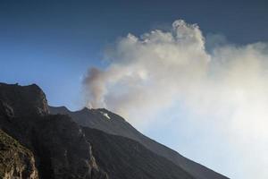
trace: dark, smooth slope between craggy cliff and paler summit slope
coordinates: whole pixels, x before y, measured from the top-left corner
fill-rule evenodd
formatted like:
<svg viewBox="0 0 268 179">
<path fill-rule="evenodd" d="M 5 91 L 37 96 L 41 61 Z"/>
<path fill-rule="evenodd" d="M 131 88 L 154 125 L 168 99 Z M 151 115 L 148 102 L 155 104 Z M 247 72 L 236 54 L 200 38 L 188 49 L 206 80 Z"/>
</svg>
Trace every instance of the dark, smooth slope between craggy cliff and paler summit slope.
<svg viewBox="0 0 268 179">
<path fill-rule="evenodd" d="M 166 158 L 146 149 L 138 141 L 85 127 L 97 163 L 110 179 L 193 179 Z"/>
</svg>

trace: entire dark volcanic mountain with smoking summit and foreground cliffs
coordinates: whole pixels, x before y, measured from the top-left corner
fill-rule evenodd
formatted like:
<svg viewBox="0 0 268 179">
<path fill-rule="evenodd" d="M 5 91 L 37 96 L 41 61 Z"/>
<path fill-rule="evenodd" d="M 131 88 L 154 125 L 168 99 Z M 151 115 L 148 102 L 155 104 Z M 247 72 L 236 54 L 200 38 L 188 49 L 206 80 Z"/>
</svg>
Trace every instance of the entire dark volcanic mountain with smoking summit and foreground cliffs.
<svg viewBox="0 0 268 179">
<path fill-rule="evenodd" d="M 223 179 L 106 109 L 48 107 L 36 85 L 0 83 L 0 178 Z"/>
</svg>

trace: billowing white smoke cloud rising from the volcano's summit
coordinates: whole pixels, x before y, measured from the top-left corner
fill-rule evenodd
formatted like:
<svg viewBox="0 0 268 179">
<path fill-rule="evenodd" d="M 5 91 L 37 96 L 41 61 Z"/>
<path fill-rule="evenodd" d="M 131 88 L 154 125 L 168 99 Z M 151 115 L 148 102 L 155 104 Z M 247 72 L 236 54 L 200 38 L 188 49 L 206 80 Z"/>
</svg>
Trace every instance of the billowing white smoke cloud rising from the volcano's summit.
<svg viewBox="0 0 268 179">
<path fill-rule="evenodd" d="M 106 51 L 106 69 L 88 70 L 88 107 L 107 107 L 132 124 L 149 124 L 161 111 L 183 104 L 193 118 L 219 121 L 214 127 L 236 146 L 248 179 L 266 179 L 267 50 L 265 43 L 225 44 L 208 53 L 197 24 L 182 20 L 170 31 L 129 34 Z"/>
</svg>

